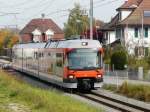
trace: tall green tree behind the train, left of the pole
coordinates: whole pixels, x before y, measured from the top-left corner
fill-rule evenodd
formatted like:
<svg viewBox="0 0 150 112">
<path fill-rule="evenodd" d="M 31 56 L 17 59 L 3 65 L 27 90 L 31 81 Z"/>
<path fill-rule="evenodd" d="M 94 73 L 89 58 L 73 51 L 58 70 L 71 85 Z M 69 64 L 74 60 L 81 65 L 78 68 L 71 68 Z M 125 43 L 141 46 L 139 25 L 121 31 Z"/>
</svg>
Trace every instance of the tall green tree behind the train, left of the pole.
<svg viewBox="0 0 150 112">
<path fill-rule="evenodd" d="M 71 38 L 72 35 L 80 35 L 88 29 L 89 18 L 87 12 L 81 9 L 79 4 L 75 4 L 70 10 L 68 22 L 64 24 L 64 32 L 66 38 Z"/>
</svg>

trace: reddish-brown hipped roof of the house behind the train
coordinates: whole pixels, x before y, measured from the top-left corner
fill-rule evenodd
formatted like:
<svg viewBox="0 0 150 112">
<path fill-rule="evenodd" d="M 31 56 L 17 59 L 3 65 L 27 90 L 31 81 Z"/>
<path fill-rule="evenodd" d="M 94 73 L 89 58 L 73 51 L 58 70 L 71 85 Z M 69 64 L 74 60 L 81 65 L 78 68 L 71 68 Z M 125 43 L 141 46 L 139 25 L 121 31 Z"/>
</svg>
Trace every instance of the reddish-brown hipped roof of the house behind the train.
<svg viewBox="0 0 150 112">
<path fill-rule="evenodd" d="M 40 30 L 42 33 L 46 32 L 48 29 L 54 31 L 54 33 L 63 33 L 59 26 L 51 19 L 32 19 L 21 30 L 20 34 L 32 33 L 35 29 Z"/>
</svg>

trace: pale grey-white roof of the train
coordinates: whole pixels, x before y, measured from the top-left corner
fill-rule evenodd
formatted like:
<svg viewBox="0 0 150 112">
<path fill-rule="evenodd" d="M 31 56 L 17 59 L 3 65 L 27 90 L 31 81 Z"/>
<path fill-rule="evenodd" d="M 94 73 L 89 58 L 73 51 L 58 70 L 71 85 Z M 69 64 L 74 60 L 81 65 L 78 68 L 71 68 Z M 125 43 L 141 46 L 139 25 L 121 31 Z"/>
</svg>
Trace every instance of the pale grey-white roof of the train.
<svg viewBox="0 0 150 112">
<path fill-rule="evenodd" d="M 76 39 L 76 40 L 51 40 L 47 43 L 17 44 L 13 48 L 101 48 L 97 40 Z"/>
</svg>

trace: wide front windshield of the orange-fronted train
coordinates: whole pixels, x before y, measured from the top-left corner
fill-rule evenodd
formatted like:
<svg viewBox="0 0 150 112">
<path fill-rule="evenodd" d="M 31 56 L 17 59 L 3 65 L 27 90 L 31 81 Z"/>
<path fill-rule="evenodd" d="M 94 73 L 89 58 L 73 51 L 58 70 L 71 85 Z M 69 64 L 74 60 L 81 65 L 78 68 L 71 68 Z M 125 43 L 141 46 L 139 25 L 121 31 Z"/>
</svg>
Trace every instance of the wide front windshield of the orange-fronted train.
<svg viewBox="0 0 150 112">
<path fill-rule="evenodd" d="M 68 55 L 68 67 L 72 70 L 92 70 L 101 67 L 101 55 L 94 49 L 75 49 Z"/>
</svg>

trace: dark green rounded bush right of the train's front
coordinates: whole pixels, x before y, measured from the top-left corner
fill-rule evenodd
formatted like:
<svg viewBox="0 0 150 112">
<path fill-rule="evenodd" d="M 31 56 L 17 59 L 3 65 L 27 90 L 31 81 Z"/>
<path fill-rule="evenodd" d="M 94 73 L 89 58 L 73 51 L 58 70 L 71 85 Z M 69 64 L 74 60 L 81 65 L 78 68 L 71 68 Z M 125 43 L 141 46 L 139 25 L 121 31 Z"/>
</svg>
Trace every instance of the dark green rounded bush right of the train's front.
<svg viewBox="0 0 150 112">
<path fill-rule="evenodd" d="M 124 65 L 127 64 L 127 55 L 123 50 L 115 51 L 111 56 L 111 65 L 114 65 L 114 69 L 123 70 Z"/>
</svg>

